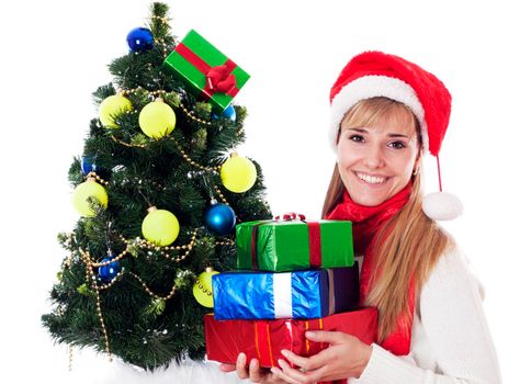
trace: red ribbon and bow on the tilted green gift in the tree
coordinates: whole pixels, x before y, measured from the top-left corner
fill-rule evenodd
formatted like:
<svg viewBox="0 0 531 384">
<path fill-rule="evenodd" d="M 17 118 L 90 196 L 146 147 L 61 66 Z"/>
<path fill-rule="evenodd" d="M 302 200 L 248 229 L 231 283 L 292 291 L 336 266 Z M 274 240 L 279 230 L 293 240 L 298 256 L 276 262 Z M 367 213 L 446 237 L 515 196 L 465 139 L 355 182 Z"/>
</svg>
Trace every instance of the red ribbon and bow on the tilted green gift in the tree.
<svg viewBox="0 0 531 384">
<path fill-rule="evenodd" d="M 176 46 L 176 52 L 206 77 L 203 93 L 208 98 L 212 98 L 214 93 L 225 93 L 234 98 L 238 93 L 239 89 L 236 87 L 236 77 L 231 74 L 236 68 L 236 64 L 233 60 L 227 58 L 223 65 L 211 67 L 182 43 Z"/>
</svg>

